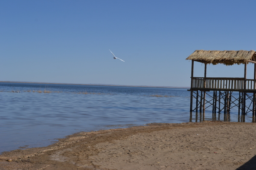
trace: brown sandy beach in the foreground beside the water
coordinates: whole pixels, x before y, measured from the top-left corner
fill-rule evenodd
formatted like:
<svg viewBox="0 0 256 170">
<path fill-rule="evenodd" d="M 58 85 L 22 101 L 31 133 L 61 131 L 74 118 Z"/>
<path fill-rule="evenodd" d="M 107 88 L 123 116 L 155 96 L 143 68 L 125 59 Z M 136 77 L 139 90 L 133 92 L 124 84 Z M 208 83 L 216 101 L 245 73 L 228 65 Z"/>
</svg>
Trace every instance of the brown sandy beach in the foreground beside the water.
<svg viewBox="0 0 256 170">
<path fill-rule="evenodd" d="M 256 124 L 240 122 L 100 130 L 3 153 L 0 170 L 255 170 L 255 137 Z"/>
</svg>

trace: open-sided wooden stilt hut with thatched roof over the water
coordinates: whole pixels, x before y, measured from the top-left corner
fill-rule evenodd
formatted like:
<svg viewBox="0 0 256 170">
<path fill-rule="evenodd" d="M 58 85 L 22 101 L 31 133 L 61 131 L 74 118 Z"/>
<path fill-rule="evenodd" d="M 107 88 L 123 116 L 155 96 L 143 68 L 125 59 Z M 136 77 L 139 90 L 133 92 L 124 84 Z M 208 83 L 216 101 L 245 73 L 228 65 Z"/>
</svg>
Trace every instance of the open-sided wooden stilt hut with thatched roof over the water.
<svg viewBox="0 0 256 170">
<path fill-rule="evenodd" d="M 204 113 L 210 107 L 212 113 L 228 114 L 238 108 L 239 115 L 256 115 L 255 51 L 196 50 L 186 59 L 192 60 L 190 111 Z M 204 63 L 204 77 L 194 77 L 194 61 Z M 247 79 L 248 63 L 254 63 L 254 79 Z M 207 77 L 207 64 L 244 64 L 244 77 Z"/>
</svg>

